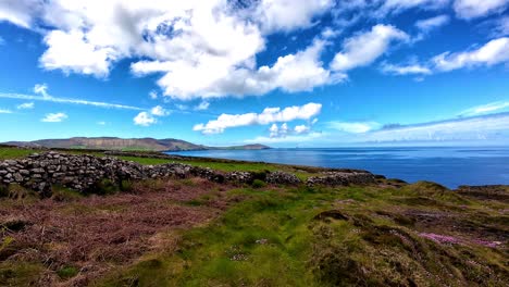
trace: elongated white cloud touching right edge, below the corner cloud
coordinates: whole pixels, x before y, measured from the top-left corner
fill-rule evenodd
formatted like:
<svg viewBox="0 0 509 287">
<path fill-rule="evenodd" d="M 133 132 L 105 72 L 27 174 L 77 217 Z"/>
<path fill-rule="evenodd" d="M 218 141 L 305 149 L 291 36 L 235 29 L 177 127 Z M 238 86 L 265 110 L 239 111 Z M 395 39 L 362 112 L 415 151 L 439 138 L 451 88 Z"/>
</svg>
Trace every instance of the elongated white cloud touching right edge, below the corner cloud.
<svg viewBox="0 0 509 287">
<path fill-rule="evenodd" d="M 495 65 L 509 62 L 509 38 L 491 40 L 479 49 L 450 53 L 445 52 L 432 59 L 439 71 L 452 71 L 479 65 Z"/>
</svg>

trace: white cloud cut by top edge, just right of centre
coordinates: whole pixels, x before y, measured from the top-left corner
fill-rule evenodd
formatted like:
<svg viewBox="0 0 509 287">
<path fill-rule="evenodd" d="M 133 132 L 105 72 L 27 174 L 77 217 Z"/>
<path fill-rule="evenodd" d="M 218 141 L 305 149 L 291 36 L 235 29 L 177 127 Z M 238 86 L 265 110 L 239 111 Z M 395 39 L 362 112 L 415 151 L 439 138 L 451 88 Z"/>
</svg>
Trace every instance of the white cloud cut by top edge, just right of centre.
<svg viewBox="0 0 509 287">
<path fill-rule="evenodd" d="M 333 0 L 262 0 L 254 17 L 266 33 L 311 26 L 315 15 L 334 5 Z"/>
</svg>

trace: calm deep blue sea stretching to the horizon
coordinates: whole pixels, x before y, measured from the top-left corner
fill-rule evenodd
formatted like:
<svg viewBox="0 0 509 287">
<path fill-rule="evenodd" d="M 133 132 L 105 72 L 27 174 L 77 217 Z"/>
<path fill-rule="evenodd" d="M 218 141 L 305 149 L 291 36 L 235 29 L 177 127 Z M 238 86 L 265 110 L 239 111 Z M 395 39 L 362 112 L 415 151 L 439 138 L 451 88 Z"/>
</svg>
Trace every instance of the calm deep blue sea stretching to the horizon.
<svg viewBox="0 0 509 287">
<path fill-rule="evenodd" d="M 409 183 L 509 185 L 509 147 L 207 150 L 170 154 L 367 170 Z"/>
</svg>

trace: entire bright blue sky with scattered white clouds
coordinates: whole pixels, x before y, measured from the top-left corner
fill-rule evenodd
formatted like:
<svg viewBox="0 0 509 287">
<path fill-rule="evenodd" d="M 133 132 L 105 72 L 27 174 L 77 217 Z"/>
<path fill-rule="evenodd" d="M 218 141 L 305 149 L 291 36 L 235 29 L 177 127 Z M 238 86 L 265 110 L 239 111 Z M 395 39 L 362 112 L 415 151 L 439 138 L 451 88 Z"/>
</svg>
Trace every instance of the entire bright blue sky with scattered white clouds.
<svg viewBox="0 0 509 287">
<path fill-rule="evenodd" d="M 5 0 L 0 63 L 0 141 L 509 144 L 509 0 Z"/>
</svg>

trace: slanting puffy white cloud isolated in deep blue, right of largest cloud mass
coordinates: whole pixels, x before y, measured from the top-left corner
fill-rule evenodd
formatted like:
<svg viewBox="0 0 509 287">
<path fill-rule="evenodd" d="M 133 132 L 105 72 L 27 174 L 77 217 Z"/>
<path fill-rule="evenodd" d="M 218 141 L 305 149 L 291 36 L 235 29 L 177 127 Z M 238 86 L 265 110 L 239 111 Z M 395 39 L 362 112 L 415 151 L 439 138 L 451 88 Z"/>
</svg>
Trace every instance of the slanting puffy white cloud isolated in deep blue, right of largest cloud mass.
<svg viewBox="0 0 509 287">
<path fill-rule="evenodd" d="M 384 54 L 394 41 L 408 40 L 409 36 L 389 25 L 376 25 L 369 32 L 355 35 L 343 43 L 343 51 L 336 53 L 331 67 L 335 71 L 348 71 L 365 66 Z"/>
</svg>

